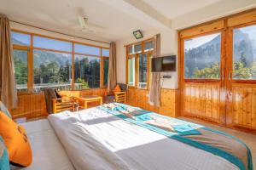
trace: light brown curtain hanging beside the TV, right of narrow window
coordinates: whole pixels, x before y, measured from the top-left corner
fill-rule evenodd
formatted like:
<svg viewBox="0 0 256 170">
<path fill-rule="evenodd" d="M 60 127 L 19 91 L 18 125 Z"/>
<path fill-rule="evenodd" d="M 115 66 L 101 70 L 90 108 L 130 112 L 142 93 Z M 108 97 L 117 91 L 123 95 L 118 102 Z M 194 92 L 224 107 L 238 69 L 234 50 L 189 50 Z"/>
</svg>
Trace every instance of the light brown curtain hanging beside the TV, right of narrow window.
<svg viewBox="0 0 256 170">
<path fill-rule="evenodd" d="M 154 57 L 160 57 L 160 34 L 154 36 Z M 160 72 L 152 72 L 149 88 L 149 104 L 160 106 Z"/>
</svg>

